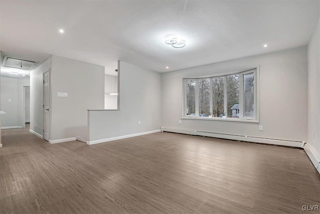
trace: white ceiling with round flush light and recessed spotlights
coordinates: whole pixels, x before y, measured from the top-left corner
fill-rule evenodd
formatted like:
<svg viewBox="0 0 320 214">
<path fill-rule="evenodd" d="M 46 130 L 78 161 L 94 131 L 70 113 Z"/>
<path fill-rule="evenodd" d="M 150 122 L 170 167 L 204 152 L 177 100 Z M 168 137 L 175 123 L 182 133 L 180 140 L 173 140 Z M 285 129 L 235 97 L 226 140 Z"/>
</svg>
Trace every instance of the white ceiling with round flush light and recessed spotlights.
<svg viewBox="0 0 320 214">
<path fill-rule="evenodd" d="M 0 48 L 26 60 L 54 54 L 103 65 L 108 74 L 117 60 L 166 72 L 306 45 L 318 19 L 319 1 L 306 0 L 0 1 Z M 166 45 L 170 37 L 186 46 Z"/>
</svg>

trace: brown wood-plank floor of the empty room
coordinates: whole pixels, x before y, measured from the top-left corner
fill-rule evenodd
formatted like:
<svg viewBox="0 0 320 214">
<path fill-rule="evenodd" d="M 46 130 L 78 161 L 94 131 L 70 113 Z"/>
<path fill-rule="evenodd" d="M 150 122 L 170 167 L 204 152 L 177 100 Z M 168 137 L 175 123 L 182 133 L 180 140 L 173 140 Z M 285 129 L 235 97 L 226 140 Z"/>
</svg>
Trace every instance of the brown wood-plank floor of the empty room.
<svg viewBox="0 0 320 214">
<path fill-rule="evenodd" d="M 0 213 L 319 213 L 303 150 L 173 133 L 88 146 L 2 130 Z"/>
</svg>

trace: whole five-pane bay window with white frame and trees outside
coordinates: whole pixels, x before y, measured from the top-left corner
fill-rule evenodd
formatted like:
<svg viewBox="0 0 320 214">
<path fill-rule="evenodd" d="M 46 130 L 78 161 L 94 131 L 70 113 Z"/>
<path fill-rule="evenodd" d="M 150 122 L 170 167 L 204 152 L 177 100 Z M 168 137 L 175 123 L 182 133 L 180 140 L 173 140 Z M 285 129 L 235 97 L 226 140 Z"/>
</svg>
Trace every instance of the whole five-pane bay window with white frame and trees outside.
<svg viewBox="0 0 320 214">
<path fill-rule="evenodd" d="M 257 120 L 257 69 L 183 79 L 183 116 Z"/>
</svg>

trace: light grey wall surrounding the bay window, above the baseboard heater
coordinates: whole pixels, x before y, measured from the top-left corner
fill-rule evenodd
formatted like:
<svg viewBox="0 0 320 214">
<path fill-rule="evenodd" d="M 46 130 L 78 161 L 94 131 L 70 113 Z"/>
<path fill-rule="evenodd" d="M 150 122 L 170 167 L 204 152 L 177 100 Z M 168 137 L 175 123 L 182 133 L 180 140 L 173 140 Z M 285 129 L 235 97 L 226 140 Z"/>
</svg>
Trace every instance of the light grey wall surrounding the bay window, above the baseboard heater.
<svg viewBox="0 0 320 214">
<path fill-rule="evenodd" d="M 182 78 L 260 65 L 260 124 L 183 119 Z M 306 47 L 162 74 L 162 126 L 291 141 L 307 139 Z M 259 131 L 263 125 L 263 131 Z"/>
</svg>

